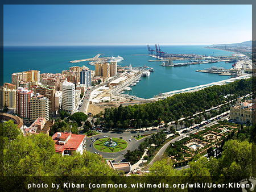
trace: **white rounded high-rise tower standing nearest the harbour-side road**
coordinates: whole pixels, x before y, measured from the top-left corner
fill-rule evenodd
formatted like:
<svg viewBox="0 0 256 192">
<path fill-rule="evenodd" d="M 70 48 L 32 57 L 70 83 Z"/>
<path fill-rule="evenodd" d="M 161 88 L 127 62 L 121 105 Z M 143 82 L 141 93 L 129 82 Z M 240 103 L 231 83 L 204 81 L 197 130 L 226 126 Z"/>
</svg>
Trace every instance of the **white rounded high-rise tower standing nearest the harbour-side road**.
<svg viewBox="0 0 256 192">
<path fill-rule="evenodd" d="M 72 82 L 62 83 L 62 108 L 73 114 L 75 111 L 75 84 Z"/>
</svg>

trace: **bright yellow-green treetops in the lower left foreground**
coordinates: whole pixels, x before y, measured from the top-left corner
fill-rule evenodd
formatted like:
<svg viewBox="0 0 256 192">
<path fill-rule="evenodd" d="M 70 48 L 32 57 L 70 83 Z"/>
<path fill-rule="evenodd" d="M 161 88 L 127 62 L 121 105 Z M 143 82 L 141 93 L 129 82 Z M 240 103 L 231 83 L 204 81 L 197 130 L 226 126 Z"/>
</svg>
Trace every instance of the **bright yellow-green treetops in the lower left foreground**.
<svg viewBox="0 0 256 192">
<path fill-rule="evenodd" d="M 118 176 L 90 152 L 61 156 L 55 153 L 51 137 L 42 133 L 23 136 L 14 123 L 3 123 L 7 141 L 3 148 L 3 176 Z M 8 128 L 9 127 L 9 128 Z M 3 131 L 13 130 L 13 133 Z M 16 129 L 16 130 L 15 130 Z M 15 131 L 14 131 L 15 130 Z M 26 179 L 26 178 L 25 178 Z"/>
</svg>

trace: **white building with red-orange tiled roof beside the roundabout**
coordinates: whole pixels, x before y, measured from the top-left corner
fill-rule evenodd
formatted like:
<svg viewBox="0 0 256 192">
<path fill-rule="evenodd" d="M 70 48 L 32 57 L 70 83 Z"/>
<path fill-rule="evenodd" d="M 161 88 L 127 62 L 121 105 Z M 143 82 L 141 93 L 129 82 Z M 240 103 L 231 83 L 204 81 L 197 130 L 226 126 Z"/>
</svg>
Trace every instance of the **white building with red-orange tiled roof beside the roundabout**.
<svg viewBox="0 0 256 192">
<path fill-rule="evenodd" d="M 85 150 L 85 135 L 72 134 L 71 132 L 56 132 L 52 139 L 55 143 L 56 153 L 72 155 L 73 152 L 82 154 Z"/>
</svg>

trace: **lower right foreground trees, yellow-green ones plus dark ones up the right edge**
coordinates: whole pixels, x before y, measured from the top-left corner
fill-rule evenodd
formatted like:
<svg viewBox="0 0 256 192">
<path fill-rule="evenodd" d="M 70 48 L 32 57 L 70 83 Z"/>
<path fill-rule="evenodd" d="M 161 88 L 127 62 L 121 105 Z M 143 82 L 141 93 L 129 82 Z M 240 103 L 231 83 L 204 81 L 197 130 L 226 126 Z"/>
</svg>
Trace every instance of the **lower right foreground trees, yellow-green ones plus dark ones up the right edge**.
<svg viewBox="0 0 256 192">
<path fill-rule="evenodd" d="M 150 168 L 150 176 L 188 176 L 180 177 L 185 182 L 239 182 L 243 178 L 254 176 L 255 158 L 253 150 L 256 144 L 256 125 L 251 127 L 240 126 L 236 133 L 226 137 L 221 146 L 217 149 L 222 151 L 219 158 L 201 157 L 197 155 L 194 161 L 189 162 L 189 169 L 173 169 L 173 161 L 170 158 L 163 158 L 156 161 Z M 175 143 L 176 144 L 176 143 Z M 221 150 L 220 150 L 221 149 Z M 208 153 L 212 154 L 213 148 Z M 213 155 L 213 154 L 212 154 Z M 200 177 L 201 176 L 201 177 Z M 203 177 L 207 176 L 207 177 Z"/>
</svg>

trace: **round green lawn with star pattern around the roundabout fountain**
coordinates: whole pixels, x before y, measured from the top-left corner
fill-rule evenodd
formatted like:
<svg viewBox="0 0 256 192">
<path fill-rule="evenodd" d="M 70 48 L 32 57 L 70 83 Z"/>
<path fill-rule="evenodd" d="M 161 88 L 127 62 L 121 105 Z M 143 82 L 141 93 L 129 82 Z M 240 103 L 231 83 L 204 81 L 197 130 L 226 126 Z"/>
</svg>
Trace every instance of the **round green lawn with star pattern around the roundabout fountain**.
<svg viewBox="0 0 256 192">
<path fill-rule="evenodd" d="M 96 140 L 94 142 L 93 146 L 98 151 L 108 152 L 108 153 L 123 151 L 128 146 L 128 143 L 125 140 L 118 139 L 118 138 L 112 138 L 113 141 L 117 142 L 117 145 L 115 147 L 107 147 L 104 145 L 104 143 L 108 140 L 109 140 L 109 137 Z"/>
</svg>

